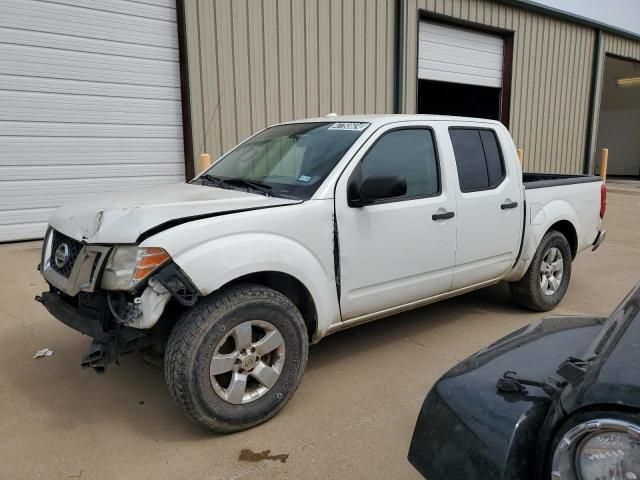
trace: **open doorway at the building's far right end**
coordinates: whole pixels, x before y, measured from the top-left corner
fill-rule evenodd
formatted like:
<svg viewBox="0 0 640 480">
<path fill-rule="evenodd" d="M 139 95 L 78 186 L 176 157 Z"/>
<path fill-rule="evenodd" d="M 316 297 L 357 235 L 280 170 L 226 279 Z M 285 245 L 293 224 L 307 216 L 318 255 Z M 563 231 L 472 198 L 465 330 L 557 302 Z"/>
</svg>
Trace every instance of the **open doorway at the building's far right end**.
<svg viewBox="0 0 640 480">
<path fill-rule="evenodd" d="M 609 176 L 640 179 L 640 62 L 605 57 L 597 148 Z"/>
</svg>

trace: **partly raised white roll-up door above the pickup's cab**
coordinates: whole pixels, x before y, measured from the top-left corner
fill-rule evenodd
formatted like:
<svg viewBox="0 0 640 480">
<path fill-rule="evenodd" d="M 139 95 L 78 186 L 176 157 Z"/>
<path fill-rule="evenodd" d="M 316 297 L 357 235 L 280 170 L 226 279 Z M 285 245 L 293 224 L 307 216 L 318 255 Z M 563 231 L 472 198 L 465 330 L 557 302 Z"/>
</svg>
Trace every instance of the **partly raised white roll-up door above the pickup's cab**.
<svg viewBox="0 0 640 480">
<path fill-rule="evenodd" d="M 499 36 L 421 21 L 418 78 L 500 88 L 503 51 Z"/>
</svg>

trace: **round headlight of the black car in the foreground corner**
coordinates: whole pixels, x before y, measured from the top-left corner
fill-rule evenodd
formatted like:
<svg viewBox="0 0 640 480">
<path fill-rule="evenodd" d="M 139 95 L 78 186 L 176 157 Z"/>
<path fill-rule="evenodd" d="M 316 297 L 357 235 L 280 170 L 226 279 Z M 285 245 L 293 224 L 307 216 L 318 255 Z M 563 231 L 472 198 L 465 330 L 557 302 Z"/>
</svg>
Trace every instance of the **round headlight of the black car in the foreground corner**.
<svg viewBox="0 0 640 480">
<path fill-rule="evenodd" d="M 551 478 L 640 480 L 640 427 L 598 419 L 572 428 L 554 452 Z"/>
</svg>

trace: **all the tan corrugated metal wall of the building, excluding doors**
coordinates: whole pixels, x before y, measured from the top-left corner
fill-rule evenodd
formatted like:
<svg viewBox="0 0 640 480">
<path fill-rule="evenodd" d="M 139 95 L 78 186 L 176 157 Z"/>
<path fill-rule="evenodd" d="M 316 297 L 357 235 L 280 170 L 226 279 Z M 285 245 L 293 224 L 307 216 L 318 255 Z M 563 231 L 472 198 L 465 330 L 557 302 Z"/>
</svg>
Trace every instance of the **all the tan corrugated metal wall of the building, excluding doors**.
<svg viewBox="0 0 640 480">
<path fill-rule="evenodd" d="M 510 130 L 525 169 L 582 171 L 593 28 L 492 0 L 405 5 L 405 112 L 416 109 L 420 10 L 511 30 Z M 215 157 L 279 121 L 393 111 L 395 0 L 189 0 L 185 17 L 194 156 Z M 640 42 L 605 34 L 603 43 L 600 62 L 604 52 L 640 57 Z"/>
</svg>

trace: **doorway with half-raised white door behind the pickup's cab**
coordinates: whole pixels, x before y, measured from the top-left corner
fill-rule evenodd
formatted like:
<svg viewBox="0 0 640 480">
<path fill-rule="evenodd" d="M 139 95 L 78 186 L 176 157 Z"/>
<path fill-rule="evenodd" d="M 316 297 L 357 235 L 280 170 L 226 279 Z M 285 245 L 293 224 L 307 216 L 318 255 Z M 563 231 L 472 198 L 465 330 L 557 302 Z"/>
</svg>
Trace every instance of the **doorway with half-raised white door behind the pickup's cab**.
<svg viewBox="0 0 640 480">
<path fill-rule="evenodd" d="M 508 126 L 512 38 L 423 19 L 417 112 L 500 120 Z"/>
</svg>

